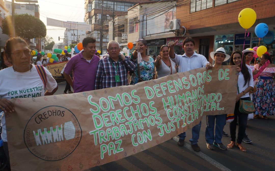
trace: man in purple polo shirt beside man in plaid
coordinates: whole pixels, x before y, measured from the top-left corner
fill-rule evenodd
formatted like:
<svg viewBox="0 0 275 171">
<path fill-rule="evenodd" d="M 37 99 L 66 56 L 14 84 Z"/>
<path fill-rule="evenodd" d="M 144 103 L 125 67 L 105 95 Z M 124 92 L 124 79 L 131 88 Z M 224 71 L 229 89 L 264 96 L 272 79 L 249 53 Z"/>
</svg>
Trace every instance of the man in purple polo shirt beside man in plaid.
<svg viewBox="0 0 275 171">
<path fill-rule="evenodd" d="M 73 56 L 67 63 L 63 75 L 73 87 L 74 93 L 95 89 L 95 73 L 99 57 L 95 53 L 95 38 L 83 39 L 83 51 Z M 73 72 L 73 80 L 70 73 Z"/>
</svg>

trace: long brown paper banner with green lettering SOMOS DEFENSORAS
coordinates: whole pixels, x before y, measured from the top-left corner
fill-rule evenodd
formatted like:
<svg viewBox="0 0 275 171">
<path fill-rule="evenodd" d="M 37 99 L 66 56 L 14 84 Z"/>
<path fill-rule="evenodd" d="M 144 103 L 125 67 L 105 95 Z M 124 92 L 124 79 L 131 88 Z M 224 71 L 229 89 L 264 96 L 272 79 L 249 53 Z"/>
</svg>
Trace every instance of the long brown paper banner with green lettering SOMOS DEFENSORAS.
<svg viewBox="0 0 275 171">
<path fill-rule="evenodd" d="M 204 115 L 233 113 L 235 66 L 75 94 L 12 99 L 12 170 L 85 170 L 163 143 Z"/>
</svg>

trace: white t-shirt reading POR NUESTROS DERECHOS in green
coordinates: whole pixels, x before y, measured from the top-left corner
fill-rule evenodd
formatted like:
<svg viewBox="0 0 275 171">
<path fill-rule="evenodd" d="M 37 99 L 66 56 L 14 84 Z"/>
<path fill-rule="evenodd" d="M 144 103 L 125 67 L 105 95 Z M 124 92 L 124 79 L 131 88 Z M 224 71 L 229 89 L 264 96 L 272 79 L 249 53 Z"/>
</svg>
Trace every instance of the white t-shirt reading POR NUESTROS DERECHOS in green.
<svg viewBox="0 0 275 171">
<path fill-rule="evenodd" d="M 0 98 L 35 98 L 44 96 L 45 89 L 52 92 L 57 83 L 51 73 L 46 69 L 47 83 L 46 88 L 40 78 L 37 69 L 32 65 L 32 69 L 25 73 L 14 72 L 13 67 L 5 68 L 0 71 Z M 16 109 L 15 109 L 16 110 Z M 7 132 L 5 116 L 1 118 L 2 140 L 7 142 Z"/>
</svg>

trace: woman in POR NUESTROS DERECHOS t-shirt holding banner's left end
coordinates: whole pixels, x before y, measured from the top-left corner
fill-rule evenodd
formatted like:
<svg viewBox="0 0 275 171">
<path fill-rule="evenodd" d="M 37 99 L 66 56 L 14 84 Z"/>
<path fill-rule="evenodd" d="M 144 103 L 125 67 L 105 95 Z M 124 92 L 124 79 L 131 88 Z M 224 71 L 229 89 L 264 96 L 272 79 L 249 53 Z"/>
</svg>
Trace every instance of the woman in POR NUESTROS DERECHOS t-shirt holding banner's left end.
<svg viewBox="0 0 275 171">
<path fill-rule="evenodd" d="M 21 38 L 7 40 L 4 52 L 6 60 L 12 64 L 0 71 L 0 109 L 4 113 L 12 113 L 16 110 L 9 101 L 11 98 L 39 97 L 56 92 L 57 83 L 51 73 L 42 66 L 30 64 L 31 53 L 25 40 Z M 46 79 L 45 77 L 42 79 L 40 74 L 44 74 Z M 1 118 L 1 126 L 4 151 L 9 159 L 4 114 Z"/>
</svg>

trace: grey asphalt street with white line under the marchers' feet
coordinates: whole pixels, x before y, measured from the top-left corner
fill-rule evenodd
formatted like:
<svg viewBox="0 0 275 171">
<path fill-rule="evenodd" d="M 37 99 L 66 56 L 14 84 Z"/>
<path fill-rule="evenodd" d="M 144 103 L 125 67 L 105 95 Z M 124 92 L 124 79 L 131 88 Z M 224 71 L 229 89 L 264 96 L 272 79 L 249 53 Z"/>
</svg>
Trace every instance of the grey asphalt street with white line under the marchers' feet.
<svg viewBox="0 0 275 171">
<path fill-rule="evenodd" d="M 65 82 L 59 83 L 56 94 L 62 94 Z M 205 117 L 202 120 L 198 145 L 201 152 L 190 146 L 191 130 L 188 130 L 185 146 L 177 145 L 178 137 L 126 158 L 94 167 L 90 170 L 275 170 L 275 117 L 268 120 L 248 121 L 246 134 L 253 141 L 242 143 L 247 152 L 233 149 L 209 150 L 205 141 Z M 237 126 L 238 129 L 238 126 Z M 229 123 L 224 127 L 229 133 Z M 222 143 L 230 143 L 230 137 L 222 137 Z"/>
</svg>

